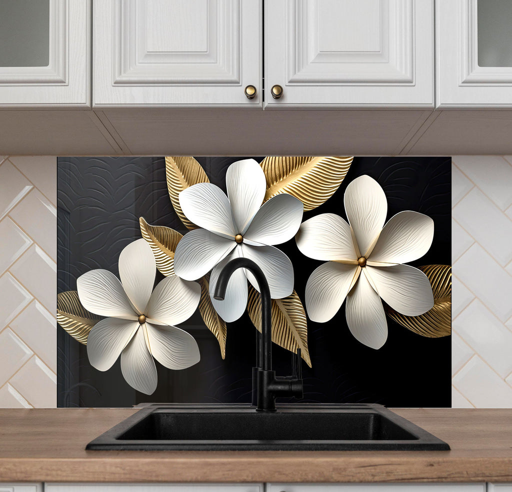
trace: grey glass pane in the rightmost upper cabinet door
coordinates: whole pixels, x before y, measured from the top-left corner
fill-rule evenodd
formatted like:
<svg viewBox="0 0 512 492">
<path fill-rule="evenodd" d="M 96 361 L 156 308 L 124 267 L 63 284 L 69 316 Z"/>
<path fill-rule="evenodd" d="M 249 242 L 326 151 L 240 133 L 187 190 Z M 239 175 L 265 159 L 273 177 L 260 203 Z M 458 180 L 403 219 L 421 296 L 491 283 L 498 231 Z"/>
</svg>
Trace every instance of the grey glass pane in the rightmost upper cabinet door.
<svg viewBox="0 0 512 492">
<path fill-rule="evenodd" d="M 478 0 L 478 65 L 512 67 L 510 0 Z"/>
</svg>

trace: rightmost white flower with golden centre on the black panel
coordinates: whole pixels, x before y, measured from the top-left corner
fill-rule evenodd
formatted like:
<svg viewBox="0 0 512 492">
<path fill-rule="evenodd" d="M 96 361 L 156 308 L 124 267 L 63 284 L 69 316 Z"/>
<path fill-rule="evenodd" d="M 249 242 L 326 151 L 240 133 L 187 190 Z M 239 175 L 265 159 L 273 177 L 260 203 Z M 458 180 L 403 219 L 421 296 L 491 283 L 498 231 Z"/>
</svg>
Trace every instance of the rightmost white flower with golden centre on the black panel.
<svg viewBox="0 0 512 492">
<path fill-rule="evenodd" d="M 407 316 L 434 306 L 425 274 L 402 263 L 421 258 L 434 237 L 434 221 L 422 213 L 403 211 L 382 228 L 388 212 L 386 195 L 369 176 L 352 181 L 345 191 L 350 225 L 334 213 L 323 213 L 301 225 L 298 249 L 319 266 L 306 285 L 309 317 L 325 323 L 342 306 L 347 324 L 362 344 L 379 349 L 388 337 L 380 297 Z"/>
</svg>

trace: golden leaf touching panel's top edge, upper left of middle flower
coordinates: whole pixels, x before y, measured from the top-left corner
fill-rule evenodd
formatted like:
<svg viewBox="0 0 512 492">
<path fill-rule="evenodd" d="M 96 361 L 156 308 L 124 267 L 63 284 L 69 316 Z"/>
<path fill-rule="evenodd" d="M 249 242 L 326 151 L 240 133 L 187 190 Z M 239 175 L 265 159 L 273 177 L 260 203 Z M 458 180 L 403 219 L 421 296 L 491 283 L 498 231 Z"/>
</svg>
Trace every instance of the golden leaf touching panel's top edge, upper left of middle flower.
<svg viewBox="0 0 512 492">
<path fill-rule="evenodd" d="M 204 169 L 194 157 L 166 157 L 165 175 L 167 177 L 167 190 L 169 191 L 170 201 L 173 204 L 181 222 L 188 229 L 197 229 L 197 225 L 191 223 L 183 213 L 180 207 L 178 195 L 180 191 L 197 183 L 209 183 L 210 180 Z"/>
</svg>

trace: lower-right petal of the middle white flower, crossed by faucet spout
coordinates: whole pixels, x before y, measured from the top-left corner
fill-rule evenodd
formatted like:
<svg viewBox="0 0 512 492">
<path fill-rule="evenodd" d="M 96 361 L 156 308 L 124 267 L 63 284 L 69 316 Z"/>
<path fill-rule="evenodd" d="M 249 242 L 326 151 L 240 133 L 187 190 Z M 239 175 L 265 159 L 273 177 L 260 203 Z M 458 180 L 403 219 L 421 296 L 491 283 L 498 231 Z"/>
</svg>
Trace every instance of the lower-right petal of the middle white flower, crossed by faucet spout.
<svg viewBox="0 0 512 492">
<path fill-rule="evenodd" d="M 249 246 L 242 244 L 242 256 L 256 263 L 265 274 L 272 299 L 282 299 L 293 291 L 293 266 L 283 251 L 273 246 Z M 254 275 L 246 271 L 247 279 L 260 291 Z"/>
</svg>

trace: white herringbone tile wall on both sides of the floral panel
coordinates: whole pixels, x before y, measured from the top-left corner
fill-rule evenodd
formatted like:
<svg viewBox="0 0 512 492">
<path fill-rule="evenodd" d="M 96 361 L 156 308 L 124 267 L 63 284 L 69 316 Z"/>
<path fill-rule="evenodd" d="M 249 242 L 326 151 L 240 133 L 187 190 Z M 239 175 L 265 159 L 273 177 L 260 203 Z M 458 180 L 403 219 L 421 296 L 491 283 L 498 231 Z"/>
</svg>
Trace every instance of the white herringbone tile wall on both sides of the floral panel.
<svg viewBox="0 0 512 492">
<path fill-rule="evenodd" d="M 56 158 L 0 190 L 0 407 L 55 407 Z M 452 263 L 452 405 L 512 408 L 512 156 L 453 158 Z"/>
</svg>

